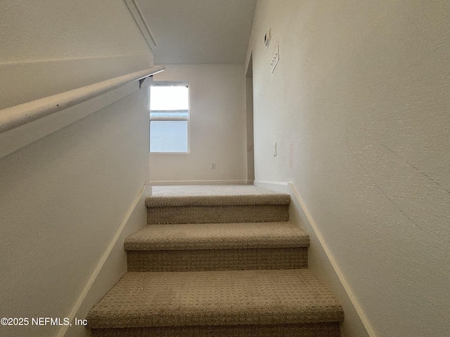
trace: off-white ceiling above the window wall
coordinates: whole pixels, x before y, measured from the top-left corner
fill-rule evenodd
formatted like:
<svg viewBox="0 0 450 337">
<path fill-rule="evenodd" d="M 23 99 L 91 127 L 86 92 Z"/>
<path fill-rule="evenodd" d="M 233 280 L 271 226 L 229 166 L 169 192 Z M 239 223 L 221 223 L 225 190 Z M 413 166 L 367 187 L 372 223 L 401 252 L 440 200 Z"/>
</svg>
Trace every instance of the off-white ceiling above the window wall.
<svg viewBox="0 0 450 337">
<path fill-rule="evenodd" d="M 243 63 L 256 0 L 138 0 L 155 65 Z"/>
</svg>

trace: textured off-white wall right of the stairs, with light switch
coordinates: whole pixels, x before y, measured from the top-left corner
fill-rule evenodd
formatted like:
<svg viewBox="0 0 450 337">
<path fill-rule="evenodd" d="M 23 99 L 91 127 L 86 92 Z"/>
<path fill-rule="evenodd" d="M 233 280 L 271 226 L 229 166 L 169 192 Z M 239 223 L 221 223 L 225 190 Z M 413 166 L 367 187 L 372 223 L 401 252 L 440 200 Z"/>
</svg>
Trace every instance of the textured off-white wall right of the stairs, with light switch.
<svg viewBox="0 0 450 337">
<path fill-rule="evenodd" d="M 373 336 L 450 334 L 449 35 L 448 1 L 257 3 L 255 180 L 293 181 Z"/>
</svg>

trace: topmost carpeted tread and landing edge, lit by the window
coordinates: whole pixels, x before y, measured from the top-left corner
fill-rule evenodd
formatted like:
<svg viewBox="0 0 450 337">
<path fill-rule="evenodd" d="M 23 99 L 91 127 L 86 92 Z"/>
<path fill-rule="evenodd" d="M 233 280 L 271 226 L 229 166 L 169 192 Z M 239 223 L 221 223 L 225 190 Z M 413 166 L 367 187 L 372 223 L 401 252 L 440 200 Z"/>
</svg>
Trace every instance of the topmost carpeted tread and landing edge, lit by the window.
<svg viewBox="0 0 450 337">
<path fill-rule="evenodd" d="M 250 185 L 154 186 L 147 207 L 290 204 L 290 195 Z"/>
</svg>

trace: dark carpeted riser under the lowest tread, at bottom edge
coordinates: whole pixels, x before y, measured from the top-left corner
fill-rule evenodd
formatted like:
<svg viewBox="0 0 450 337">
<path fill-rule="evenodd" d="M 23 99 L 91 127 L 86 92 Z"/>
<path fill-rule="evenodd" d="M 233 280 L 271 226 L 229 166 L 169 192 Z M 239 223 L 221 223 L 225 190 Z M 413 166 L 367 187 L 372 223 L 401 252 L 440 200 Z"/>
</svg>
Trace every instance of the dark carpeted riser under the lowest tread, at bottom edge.
<svg viewBox="0 0 450 337">
<path fill-rule="evenodd" d="M 92 329 L 91 337 L 340 337 L 339 323 Z"/>
</svg>

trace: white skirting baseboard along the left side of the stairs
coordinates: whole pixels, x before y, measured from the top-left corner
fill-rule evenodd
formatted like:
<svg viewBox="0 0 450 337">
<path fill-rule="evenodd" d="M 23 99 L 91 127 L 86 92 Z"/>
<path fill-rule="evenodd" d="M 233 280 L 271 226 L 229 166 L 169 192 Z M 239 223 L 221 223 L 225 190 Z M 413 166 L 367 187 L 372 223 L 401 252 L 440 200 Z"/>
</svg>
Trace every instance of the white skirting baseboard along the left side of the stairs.
<svg viewBox="0 0 450 337">
<path fill-rule="evenodd" d="M 98 260 L 94 272 L 84 286 L 77 302 L 73 305 L 68 315 L 70 322 L 73 322 L 75 317 L 84 319 L 94 304 L 101 300 L 105 293 L 127 272 L 127 253 L 124 251 L 124 239 L 146 225 L 145 198 L 149 191 L 151 191 L 151 187 L 143 185 L 136 194 L 108 248 Z M 62 326 L 57 336 L 84 337 L 89 336 L 89 331 L 84 326 Z"/>
</svg>

